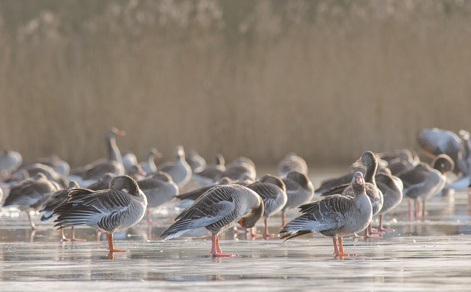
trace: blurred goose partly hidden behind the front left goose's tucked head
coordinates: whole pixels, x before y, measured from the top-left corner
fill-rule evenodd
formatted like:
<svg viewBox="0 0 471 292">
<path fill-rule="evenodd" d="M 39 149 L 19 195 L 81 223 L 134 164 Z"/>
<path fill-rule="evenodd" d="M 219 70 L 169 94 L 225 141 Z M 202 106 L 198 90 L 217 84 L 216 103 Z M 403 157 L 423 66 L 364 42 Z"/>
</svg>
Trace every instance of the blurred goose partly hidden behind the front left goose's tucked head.
<svg viewBox="0 0 471 292">
<path fill-rule="evenodd" d="M 178 195 L 178 186 L 170 175 L 159 171 L 151 178 L 138 181 L 139 189 L 147 197 L 147 224 L 153 225 L 151 210 L 173 199 Z"/>
</svg>

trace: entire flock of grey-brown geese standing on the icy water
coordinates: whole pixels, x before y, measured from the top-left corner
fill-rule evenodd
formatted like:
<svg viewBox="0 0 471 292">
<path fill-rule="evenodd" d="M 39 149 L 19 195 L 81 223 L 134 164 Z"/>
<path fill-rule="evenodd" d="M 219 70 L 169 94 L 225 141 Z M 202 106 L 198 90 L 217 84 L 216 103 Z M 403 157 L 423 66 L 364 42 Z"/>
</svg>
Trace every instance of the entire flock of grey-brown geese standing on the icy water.
<svg viewBox="0 0 471 292">
<path fill-rule="evenodd" d="M 125 133 L 116 128 L 105 134 L 108 158 L 70 170 L 67 162 L 57 156 L 22 162 L 21 155 L 3 151 L 0 155 L 0 201 L 2 208 L 26 211 L 31 228 L 30 211 L 42 212 L 40 222 L 56 218 L 64 241 L 74 237 L 76 226 L 87 225 L 106 232 L 109 251 L 125 251 L 113 244 L 116 230 L 129 228 L 151 211 L 177 198 L 183 210 L 161 237 L 211 236 L 212 256 L 236 256 L 221 251 L 219 235 L 238 223 L 252 237 L 274 237 L 268 233 L 270 216 L 281 212 L 282 239 L 318 232 L 331 237 L 335 255 L 344 252 L 342 238 L 363 231 L 363 237 L 375 237 L 392 230 L 383 227 L 383 215 L 398 206 L 403 197 L 409 199 L 409 214 L 419 219 L 426 215 L 426 201 L 453 190 L 470 191 L 471 141 L 468 132 L 459 135 L 440 129 L 423 129 L 417 135 L 421 151 L 433 158 L 431 165 L 420 162 L 409 149 L 385 153 L 365 151 L 348 171 L 314 187 L 307 176 L 306 162 L 289 153 L 279 163 L 278 176 L 265 174 L 255 180 L 254 163 L 238 157 L 225 165 L 224 157 L 216 155 L 213 164 L 194 150 L 177 146 L 174 161 L 156 166 L 162 157 L 155 148 L 147 151 L 138 162 L 132 152 L 120 153 L 116 138 Z M 454 172 L 457 180 L 447 182 L 446 172 Z M 201 187 L 183 192 L 193 179 Z M 5 198 L 2 200 L 2 189 Z M 323 198 L 309 202 L 314 194 Z M 420 208 L 420 201 L 422 208 Z M 471 195 L 470 195 L 471 202 Z M 412 214 L 412 204 L 414 212 Z M 298 207 L 300 216 L 286 222 L 287 209 Z M 371 226 L 372 217 L 379 215 L 379 226 Z M 253 227 L 263 218 L 264 231 L 257 234 Z M 65 238 L 63 228 L 72 228 Z"/>
</svg>

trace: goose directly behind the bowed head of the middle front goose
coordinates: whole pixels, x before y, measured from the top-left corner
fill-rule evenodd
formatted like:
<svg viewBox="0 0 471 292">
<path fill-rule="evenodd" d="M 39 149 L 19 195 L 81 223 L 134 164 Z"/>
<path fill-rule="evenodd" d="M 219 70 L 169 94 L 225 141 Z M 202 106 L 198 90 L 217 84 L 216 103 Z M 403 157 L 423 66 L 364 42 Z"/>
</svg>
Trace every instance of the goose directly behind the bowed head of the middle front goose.
<svg viewBox="0 0 471 292">
<path fill-rule="evenodd" d="M 263 200 L 263 223 L 265 229 L 262 237 L 264 239 L 274 237 L 274 234 L 268 233 L 268 218 L 280 212 L 288 201 L 285 183 L 283 183 L 279 177 L 266 174 L 263 175 L 258 182 L 248 185 L 247 188 L 260 195 Z"/>
</svg>

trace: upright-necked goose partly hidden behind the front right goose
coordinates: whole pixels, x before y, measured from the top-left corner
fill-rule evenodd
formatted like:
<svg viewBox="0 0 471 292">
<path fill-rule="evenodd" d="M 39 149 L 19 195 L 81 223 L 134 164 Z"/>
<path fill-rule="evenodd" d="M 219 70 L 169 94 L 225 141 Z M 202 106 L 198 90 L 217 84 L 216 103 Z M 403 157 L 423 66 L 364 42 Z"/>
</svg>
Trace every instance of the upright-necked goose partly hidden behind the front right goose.
<svg viewBox="0 0 471 292">
<path fill-rule="evenodd" d="M 376 187 L 376 180 L 375 174 L 378 164 L 376 162 L 376 156 L 371 151 L 365 151 L 361 154 L 361 157 L 357 160 L 357 162 L 365 162 L 368 165 L 366 169 L 366 173 L 364 175 L 364 185 L 366 189 L 366 195 L 369 197 L 373 216 L 378 214 L 381 208 L 383 207 L 383 194 L 381 191 Z M 352 184 L 348 185 L 340 185 L 335 188 L 332 188 L 330 191 L 325 192 L 322 194 L 324 195 L 332 195 L 332 194 L 339 194 L 341 193 L 343 196 L 353 195 Z M 382 232 L 375 232 L 373 231 L 371 225 L 368 225 L 368 228 L 365 230 L 364 237 L 371 237 L 374 233 L 382 233 Z"/>
</svg>

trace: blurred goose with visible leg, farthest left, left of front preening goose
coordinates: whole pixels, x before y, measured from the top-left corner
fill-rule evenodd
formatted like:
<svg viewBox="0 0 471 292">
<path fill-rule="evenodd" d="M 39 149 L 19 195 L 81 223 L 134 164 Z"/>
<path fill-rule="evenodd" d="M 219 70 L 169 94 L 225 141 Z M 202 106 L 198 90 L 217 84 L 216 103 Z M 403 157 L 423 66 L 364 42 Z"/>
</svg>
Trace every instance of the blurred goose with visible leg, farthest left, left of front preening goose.
<svg viewBox="0 0 471 292">
<path fill-rule="evenodd" d="M 38 173 L 34 178 L 12 185 L 8 196 L 3 202 L 3 207 L 17 207 L 19 210 L 25 211 L 28 214 L 31 228 L 41 230 L 34 224 L 29 212 L 41 210 L 49 196 L 58 190 L 59 185 L 57 183 L 49 181 L 43 173 Z"/>
</svg>

